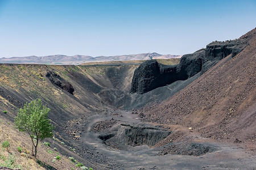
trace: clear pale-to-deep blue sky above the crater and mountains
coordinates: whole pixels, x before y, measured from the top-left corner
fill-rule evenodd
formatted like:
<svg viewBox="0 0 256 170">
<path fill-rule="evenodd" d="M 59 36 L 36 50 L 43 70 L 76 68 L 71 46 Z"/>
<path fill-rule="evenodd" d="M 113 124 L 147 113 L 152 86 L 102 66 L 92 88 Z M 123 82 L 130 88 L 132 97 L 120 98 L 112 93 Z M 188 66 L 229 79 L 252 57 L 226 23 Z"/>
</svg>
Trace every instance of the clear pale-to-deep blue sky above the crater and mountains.
<svg viewBox="0 0 256 170">
<path fill-rule="evenodd" d="M 255 0 L 0 0 L 0 58 L 187 54 L 255 27 Z"/>
</svg>

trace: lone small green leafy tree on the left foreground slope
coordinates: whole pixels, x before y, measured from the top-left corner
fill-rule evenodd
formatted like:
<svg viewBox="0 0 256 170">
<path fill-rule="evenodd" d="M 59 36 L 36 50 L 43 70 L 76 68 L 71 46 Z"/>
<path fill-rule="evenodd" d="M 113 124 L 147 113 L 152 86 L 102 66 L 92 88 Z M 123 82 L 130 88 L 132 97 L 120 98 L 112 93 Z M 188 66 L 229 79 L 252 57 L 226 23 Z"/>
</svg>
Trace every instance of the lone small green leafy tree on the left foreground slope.
<svg viewBox="0 0 256 170">
<path fill-rule="evenodd" d="M 32 100 L 31 103 L 24 104 L 23 108 L 18 110 L 18 115 L 15 117 L 15 125 L 19 131 L 27 131 L 32 140 L 32 155 L 36 157 L 36 148 L 38 140 L 51 138 L 52 130 L 55 128 L 48 118 L 50 111 L 46 105 L 42 105 L 40 99 Z M 34 154 L 35 148 L 35 154 Z"/>
</svg>

